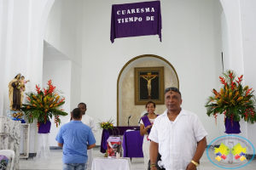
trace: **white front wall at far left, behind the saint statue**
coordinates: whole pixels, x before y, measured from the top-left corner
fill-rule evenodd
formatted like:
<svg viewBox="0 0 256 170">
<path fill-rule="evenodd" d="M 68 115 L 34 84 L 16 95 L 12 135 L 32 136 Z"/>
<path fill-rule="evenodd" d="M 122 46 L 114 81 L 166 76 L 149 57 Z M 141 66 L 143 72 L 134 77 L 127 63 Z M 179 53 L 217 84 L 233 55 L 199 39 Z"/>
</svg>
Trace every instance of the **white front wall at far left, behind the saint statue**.
<svg viewBox="0 0 256 170">
<path fill-rule="evenodd" d="M 0 115 L 9 109 L 8 84 L 20 72 L 30 79 L 26 92 L 34 91 L 43 77 L 43 35 L 54 0 L 0 0 Z M 30 153 L 34 153 L 36 124 L 30 133 Z"/>
</svg>

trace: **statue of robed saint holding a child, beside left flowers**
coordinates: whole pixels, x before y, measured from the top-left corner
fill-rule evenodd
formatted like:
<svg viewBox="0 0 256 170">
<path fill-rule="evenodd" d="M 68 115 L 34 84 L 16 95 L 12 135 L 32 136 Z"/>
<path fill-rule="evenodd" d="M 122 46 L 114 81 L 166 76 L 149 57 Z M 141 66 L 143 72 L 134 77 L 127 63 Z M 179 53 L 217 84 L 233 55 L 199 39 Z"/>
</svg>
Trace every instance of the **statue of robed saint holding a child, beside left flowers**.
<svg viewBox="0 0 256 170">
<path fill-rule="evenodd" d="M 21 88 L 21 82 L 20 82 L 20 73 L 15 76 L 15 78 L 9 82 L 9 101 L 10 105 L 9 108 L 11 111 L 20 111 L 20 88 Z"/>
</svg>

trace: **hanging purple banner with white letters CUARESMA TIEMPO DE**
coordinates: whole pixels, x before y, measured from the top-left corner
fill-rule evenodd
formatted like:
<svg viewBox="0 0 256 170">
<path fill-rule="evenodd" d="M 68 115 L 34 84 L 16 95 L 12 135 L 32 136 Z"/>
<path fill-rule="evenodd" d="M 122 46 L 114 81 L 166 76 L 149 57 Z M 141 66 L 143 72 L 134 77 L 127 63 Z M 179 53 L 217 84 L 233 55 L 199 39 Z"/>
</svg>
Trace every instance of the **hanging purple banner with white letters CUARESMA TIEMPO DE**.
<svg viewBox="0 0 256 170">
<path fill-rule="evenodd" d="M 160 1 L 113 4 L 110 40 L 119 37 L 159 35 L 161 42 L 162 20 Z"/>
</svg>

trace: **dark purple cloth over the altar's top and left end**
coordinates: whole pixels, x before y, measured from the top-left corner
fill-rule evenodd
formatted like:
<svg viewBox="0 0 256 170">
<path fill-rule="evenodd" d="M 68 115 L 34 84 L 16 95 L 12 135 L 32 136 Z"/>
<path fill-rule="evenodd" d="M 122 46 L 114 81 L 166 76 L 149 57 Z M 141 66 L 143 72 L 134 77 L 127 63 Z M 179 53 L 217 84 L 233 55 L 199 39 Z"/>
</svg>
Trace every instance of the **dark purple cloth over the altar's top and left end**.
<svg viewBox="0 0 256 170">
<path fill-rule="evenodd" d="M 140 127 L 113 127 L 113 130 L 102 130 L 102 141 L 101 141 L 101 152 L 104 154 L 106 153 L 106 150 L 108 150 L 107 146 L 107 140 L 109 135 L 124 135 L 125 131 L 128 129 L 134 129 L 137 128 L 139 129 Z M 118 128 L 118 129 L 115 129 Z"/>
</svg>

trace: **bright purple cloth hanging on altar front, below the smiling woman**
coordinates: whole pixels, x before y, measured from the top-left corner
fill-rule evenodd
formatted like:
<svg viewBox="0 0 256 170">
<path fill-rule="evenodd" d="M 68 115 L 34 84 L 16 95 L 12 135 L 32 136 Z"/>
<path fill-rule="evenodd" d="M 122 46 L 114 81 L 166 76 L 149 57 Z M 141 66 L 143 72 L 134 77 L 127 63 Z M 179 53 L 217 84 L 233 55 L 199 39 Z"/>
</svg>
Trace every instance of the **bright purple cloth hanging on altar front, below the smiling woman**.
<svg viewBox="0 0 256 170">
<path fill-rule="evenodd" d="M 143 137 L 140 131 L 124 133 L 122 144 L 124 157 L 143 157 Z"/>
</svg>

